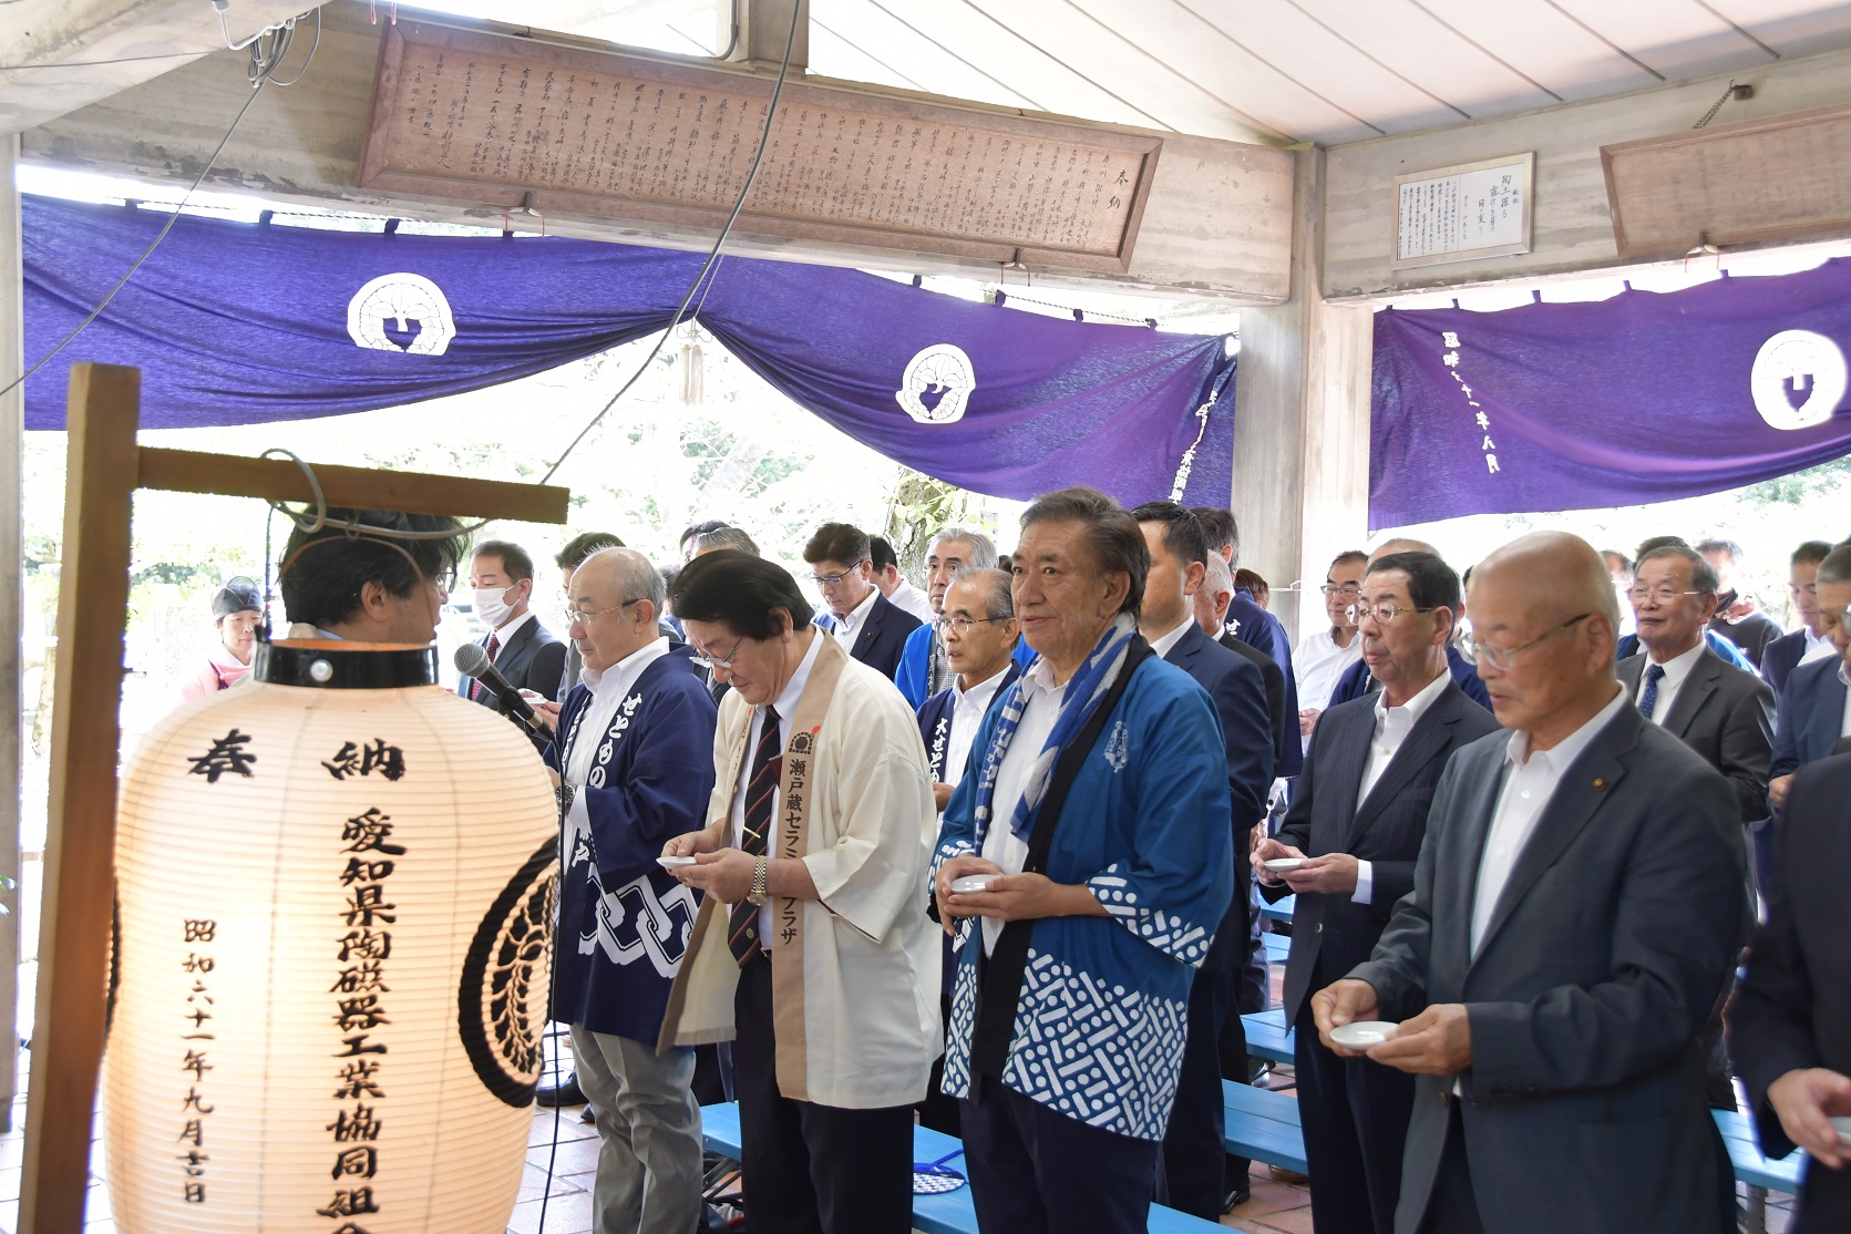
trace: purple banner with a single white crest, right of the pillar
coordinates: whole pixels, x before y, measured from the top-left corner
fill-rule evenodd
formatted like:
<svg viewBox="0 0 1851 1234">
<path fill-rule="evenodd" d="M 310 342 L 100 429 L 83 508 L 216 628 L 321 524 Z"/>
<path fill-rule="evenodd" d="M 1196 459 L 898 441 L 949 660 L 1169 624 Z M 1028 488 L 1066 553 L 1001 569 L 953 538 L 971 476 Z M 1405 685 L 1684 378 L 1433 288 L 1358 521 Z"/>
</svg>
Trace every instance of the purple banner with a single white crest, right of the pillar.
<svg viewBox="0 0 1851 1234">
<path fill-rule="evenodd" d="M 1375 315 L 1370 527 L 1642 505 L 1851 453 L 1851 261 Z"/>
</svg>

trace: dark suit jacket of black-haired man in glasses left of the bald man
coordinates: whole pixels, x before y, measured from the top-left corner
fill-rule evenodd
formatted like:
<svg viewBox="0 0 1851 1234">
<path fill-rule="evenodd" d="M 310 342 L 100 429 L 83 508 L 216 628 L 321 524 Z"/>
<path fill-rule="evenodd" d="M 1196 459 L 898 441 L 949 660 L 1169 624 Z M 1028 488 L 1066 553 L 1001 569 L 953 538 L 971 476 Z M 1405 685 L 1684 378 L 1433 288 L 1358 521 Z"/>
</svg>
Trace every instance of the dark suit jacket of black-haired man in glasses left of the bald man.
<svg viewBox="0 0 1851 1234">
<path fill-rule="evenodd" d="M 1370 862 L 1370 903 L 1305 894 L 1292 912 L 1292 958 L 1285 969 L 1286 1023 L 1320 986 L 1370 958 L 1396 901 L 1414 890 L 1414 858 L 1427 836 L 1427 808 L 1446 760 L 1497 731 L 1497 720 L 1447 683 L 1403 738 L 1370 796 L 1357 799 L 1375 736 L 1375 696 L 1338 703 L 1318 718 L 1292 808 L 1275 836 L 1307 857 L 1349 853 Z M 1261 884 L 1266 899 L 1286 886 Z M 1322 973 L 1314 986 L 1314 973 Z"/>
</svg>

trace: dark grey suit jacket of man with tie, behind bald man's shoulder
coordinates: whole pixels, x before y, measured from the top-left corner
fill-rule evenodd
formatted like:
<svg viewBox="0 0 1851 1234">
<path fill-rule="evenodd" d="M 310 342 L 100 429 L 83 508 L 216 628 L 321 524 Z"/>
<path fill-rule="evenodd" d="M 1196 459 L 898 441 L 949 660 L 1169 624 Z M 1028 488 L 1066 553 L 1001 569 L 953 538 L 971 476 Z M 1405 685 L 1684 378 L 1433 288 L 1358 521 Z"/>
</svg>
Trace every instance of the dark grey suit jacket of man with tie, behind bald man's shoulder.
<svg viewBox="0 0 1851 1234">
<path fill-rule="evenodd" d="M 1620 660 L 1620 685 L 1627 697 L 1638 697 L 1646 672 L 1646 653 Z M 1666 733 L 1690 746 L 1723 773 L 1736 792 L 1742 821 L 1768 818 L 1768 764 L 1773 762 L 1773 690 L 1755 673 L 1744 673 L 1708 646 L 1677 686 Z"/>
</svg>

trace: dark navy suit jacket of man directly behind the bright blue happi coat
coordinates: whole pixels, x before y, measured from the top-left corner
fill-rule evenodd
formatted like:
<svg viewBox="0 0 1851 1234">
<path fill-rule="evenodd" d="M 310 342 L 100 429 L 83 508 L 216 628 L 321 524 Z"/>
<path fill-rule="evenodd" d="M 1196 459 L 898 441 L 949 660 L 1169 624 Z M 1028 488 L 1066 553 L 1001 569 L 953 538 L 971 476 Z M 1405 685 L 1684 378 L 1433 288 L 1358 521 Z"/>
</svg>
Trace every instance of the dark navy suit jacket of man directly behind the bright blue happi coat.
<svg viewBox="0 0 1851 1234">
<path fill-rule="evenodd" d="M 1222 925 L 1214 931 L 1214 944 L 1201 968 L 1211 973 L 1231 973 L 1248 955 L 1248 833 L 1266 818 L 1266 797 L 1273 781 L 1266 685 L 1259 668 L 1216 644 L 1194 622 L 1162 659 L 1209 692 L 1214 714 L 1222 722 L 1222 742 L 1227 746 L 1227 790 L 1233 796 L 1235 821 L 1235 895 L 1222 914 Z"/>
</svg>

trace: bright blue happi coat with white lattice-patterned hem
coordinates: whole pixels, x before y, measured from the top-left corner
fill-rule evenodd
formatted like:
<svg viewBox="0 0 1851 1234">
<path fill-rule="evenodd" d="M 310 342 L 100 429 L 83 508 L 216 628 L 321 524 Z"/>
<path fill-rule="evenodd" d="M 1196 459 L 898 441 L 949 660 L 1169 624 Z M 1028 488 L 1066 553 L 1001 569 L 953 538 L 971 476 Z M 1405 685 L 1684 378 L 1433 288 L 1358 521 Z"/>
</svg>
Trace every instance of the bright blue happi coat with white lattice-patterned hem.
<svg viewBox="0 0 1851 1234">
<path fill-rule="evenodd" d="M 985 716 L 946 805 L 935 871 L 983 851 L 974 807 L 1001 710 Z M 1005 827 L 1012 810 L 998 797 L 990 825 Z M 1085 884 L 1111 916 L 1035 921 L 1003 1084 L 1092 1127 L 1162 1140 L 1190 979 L 1235 892 L 1231 845 L 1214 705 L 1188 673 L 1149 657 L 1087 755 L 1048 853 L 1048 877 Z M 968 1097 L 983 955 L 975 919 L 959 927 L 957 947 L 944 1092 Z"/>
</svg>

